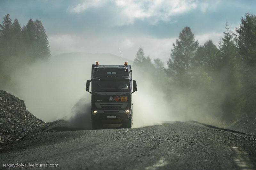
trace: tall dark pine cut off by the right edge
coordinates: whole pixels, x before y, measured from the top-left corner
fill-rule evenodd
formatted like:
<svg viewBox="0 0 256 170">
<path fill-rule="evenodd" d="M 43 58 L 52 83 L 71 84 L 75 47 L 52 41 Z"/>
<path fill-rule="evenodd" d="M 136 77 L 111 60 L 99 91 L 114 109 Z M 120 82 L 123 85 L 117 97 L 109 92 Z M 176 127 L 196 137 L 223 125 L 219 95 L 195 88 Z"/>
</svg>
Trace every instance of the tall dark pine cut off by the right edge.
<svg viewBox="0 0 256 170">
<path fill-rule="evenodd" d="M 250 13 L 241 18 L 241 24 L 236 27 L 236 43 L 242 60 L 245 112 L 256 110 L 256 16 Z"/>
</svg>

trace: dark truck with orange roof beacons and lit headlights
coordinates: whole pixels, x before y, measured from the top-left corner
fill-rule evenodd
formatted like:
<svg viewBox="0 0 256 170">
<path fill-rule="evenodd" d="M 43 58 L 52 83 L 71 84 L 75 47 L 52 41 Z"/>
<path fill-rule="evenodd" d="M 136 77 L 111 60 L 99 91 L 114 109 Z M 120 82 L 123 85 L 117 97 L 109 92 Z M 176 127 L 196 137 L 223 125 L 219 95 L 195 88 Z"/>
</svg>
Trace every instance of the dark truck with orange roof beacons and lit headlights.
<svg viewBox="0 0 256 170">
<path fill-rule="evenodd" d="M 90 91 L 91 83 L 91 91 Z M 132 93 L 137 83 L 132 80 L 132 66 L 92 64 L 91 79 L 86 81 L 86 91 L 91 93 L 92 128 L 104 124 L 121 124 L 132 128 Z"/>
</svg>

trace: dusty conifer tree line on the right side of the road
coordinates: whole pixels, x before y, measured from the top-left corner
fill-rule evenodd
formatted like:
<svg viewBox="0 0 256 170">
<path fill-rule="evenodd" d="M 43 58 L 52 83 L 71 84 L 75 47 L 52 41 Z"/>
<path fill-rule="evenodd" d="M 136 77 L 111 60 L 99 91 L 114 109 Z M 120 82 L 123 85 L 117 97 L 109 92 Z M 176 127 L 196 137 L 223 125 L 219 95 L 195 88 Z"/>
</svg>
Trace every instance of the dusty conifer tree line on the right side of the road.
<svg viewBox="0 0 256 170">
<path fill-rule="evenodd" d="M 142 48 L 134 65 L 154 80 L 161 79 L 157 86 L 170 100 L 182 96 L 185 112 L 201 110 L 235 121 L 256 111 L 256 16 L 246 13 L 234 32 L 226 24 L 218 47 L 212 40 L 200 46 L 190 27 L 184 27 L 172 45 L 167 68 L 159 58 L 152 62 Z"/>
</svg>

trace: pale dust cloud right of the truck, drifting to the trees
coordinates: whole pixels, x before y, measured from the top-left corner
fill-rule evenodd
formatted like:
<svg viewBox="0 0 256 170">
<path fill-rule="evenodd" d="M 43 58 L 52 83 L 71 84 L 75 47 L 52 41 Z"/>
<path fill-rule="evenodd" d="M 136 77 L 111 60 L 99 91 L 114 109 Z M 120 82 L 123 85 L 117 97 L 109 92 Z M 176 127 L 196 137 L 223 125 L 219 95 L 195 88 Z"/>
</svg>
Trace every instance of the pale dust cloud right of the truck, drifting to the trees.
<svg viewBox="0 0 256 170">
<path fill-rule="evenodd" d="M 141 73 L 142 72 L 142 73 Z M 221 121 L 223 111 L 222 95 L 209 97 L 202 88 L 189 89 L 173 85 L 172 80 L 164 74 L 164 86 L 157 86 L 153 74 L 144 74 L 140 68 L 133 68 L 133 79 L 137 81 L 138 91 L 133 93 L 133 128 L 151 126 L 175 121 L 198 121 L 225 128 Z M 200 83 L 199 83 L 200 84 Z M 158 83 L 159 85 L 159 83 Z M 213 88 L 221 89 L 217 82 Z"/>
</svg>

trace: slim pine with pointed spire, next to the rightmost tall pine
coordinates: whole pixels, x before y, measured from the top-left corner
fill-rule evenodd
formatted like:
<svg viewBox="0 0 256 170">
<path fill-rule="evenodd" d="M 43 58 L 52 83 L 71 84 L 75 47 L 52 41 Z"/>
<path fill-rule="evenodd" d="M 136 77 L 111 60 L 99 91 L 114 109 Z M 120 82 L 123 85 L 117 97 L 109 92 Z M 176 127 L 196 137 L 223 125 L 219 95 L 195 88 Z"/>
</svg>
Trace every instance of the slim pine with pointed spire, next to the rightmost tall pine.
<svg viewBox="0 0 256 170">
<path fill-rule="evenodd" d="M 226 121 L 236 120 L 241 113 L 243 103 L 240 96 L 241 74 L 238 71 L 237 49 L 233 40 L 232 32 L 226 24 L 226 31 L 220 40 L 221 68 L 219 80 L 221 83 L 220 96 L 223 96 L 222 109 L 223 119 Z"/>
</svg>

